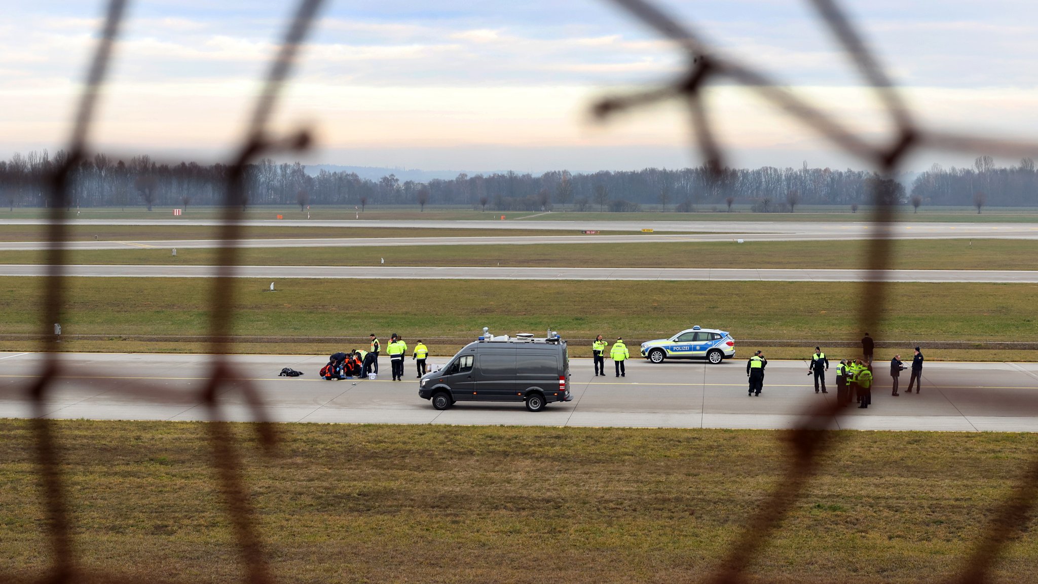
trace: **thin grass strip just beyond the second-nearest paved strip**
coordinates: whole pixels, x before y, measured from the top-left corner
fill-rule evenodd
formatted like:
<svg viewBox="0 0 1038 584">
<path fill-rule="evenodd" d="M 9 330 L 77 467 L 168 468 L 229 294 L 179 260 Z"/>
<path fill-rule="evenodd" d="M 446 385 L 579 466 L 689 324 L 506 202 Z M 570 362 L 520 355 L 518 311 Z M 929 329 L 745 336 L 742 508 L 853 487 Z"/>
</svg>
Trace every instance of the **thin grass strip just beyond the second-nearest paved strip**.
<svg viewBox="0 0 1038 584">
<path fill-rule="evenodd" d="M 431 230 L 432 231 L 432 230 Z M 1033 270 L 1038 240 L 896 240 L 892 269 Z M 216 249 L 69 251 L 70 264 L 214 265 Z M 531 245 L 407 245 L 380 247 L 243 248 L 240 265 L 311 266 L 557 266 L 636 268 L 866 267 L 867 241 L 554 243 Z M 0 264 L 46 262 L 43 251 L 0 251 Z"/>
</svg>

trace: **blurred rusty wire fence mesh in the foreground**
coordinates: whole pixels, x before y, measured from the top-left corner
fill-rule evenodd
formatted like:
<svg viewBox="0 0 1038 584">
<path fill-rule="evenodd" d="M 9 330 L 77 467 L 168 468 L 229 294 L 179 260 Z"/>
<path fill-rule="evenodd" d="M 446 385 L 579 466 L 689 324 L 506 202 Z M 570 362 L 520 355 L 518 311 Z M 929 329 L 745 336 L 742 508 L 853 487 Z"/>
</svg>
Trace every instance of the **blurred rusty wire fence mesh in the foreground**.
<svg viewBox="0 0 1038 584">
<path fill-rule="evenodd" d="M 725 148 L 713 131 L 713 116 L 704 100 L 704 88 L 716 79 L 727 79 L 755 91 L 780 110 L 798 121 L 845 153 L 852 155 L 875 168 L 881 177 L 891 179 L 901 164 L 920 149 L 954 151 L 963 153 L 987 152 L 996 155 L 1026 155 L 1038 150 L 1038 143 L 1001 140 L 982 135 L 958 134 L 935 129 L 924 129 L 914 120 L 911 111 L 902 101 L 897 88 L 885 74 L 878 59 L 868 49 L 853 23 L 845 16 L 835 0 L 808 0 L 818 12 L 818 19 L 828 27 L 842 46 L 848 60 L 858 70 L 865 82 L 874 90 L 890 116 L 895 132 L 885 142 L 874 144 L 840 124 L 836 118 L 808 101 L 794 96 L 766 72 L 728 58 L 707 45 L 700 35 L 660 6 L 646 0 L 608 0 L 626 10 L 635 21 L 656 30 L 675 42 L 687 55 L 688 68 L 675 81 L 660 87 L 617 96 L 601 100 L 594 106 L 594 112 L 607 118 L 620 111 L 652 104 L 665 99 L 679 99 L 689 109 L 691 128 L 696 149 L 706 161 L 714 180 L 723 180 L 726 168 Z M 243 342 L 231 335 L 231 316 L 235 306 L 234 274 L 241 248 L 228 244 L 241 238 L 240 219 L 243 218 L 244 174 L 246 165 L 256 158 L 274 152 L 302 151 L 308 148 L 310 138 L 305 130 L 288 136 L 271 136 L 267 125 L 273 112 L 298 50 L 310 30 L 322 0 L 301 0 L 289 21 L 281 39 L 279 51 L 270 63 L 266 83 L 256 98 L 250 124 L 241 138 L 237 154 L 228 163 L 224 184 L 223 215 L 220 227 L 219 262 L 217 277 L 212 280 L 210 334 L 203 340 L 210 346 L 214 360 L 212 370 L 201 398 L 206 403 L 213 423 L 209 424 L 213 467 L 217 474 L 224 505 L 233 525 L 238 557 L 245 569 L 245 580 L 265 584 L 272 581 L 264 553 L 264 542 L 256 529 L 253 509 L 242 480 L 241 457 L 235 447 L 229 426 L 219 422 L 220 409 L 217 396 L 222 389 L 241 391 L 252 409 L 256 421 L 256 431 L 261 443 L 268 449 L 276 441 L 275 429 L 267 422 L 264 404 L 246 375 L 239 374 L 226 357 L 233 353 L 235 343 Z M 66 242 L 66 225 L 62 210 L 70 200 L 71 174 L 88 152 L 90 125 L 94 117 L 94 106 L 105 81 L 109 63 L 117 46 L 117 34 L 127 8 L 126 0 L 110 0 L 106 18 L 102 25 L 100 39 L 90 60 L 86 82 L 69 139 L 67 158 L 60 164 L 50 180 L 48 206 L 50 207 L 50 241 Z M 872 193 L 876 213 L 873 216 L 874 237 L 869 241 L 867 267 L 884 271 L 890 266 L 890 245 L 887 223 L 893 219 L 894 204 L 890 192 L 879 181 Z M 65 302 L 65 259 L 63 245 L 52 246 L 47 256 L 49 265 L 46 278 L 46 301 L 40 310 L 38 336 L 40 349 L 47 355 L 38 374 L 24 391 L 31 397 L 35 418 L 32 421 L 35 459 L 40 482 L 40 493 L 47 511 L 47 530 L 50 537 L 51 568 L 40 581 L 64 583 L 85 578 L 76 562 L 70 525 L 69 505 L 62 476 L 60 459 L 52 433 L 53 422 L 46 418 L 49 393 L 58 378 L 65 373 L 60 346 L 48 328 L 50 323 L 60 322 L 61 309 Z M 863 330 L 877 329 L 882 314 L 883 299 L 887 293 L 886 282 L 862 283 L 861 306 L 857 321 Z M 77 374 L 83 374 L 82 369 Z M 116 386 L 113 393 L 146 399 L 158 403 L 192 403 L 193 396 L 171 393 L 168 388 L 136 383 L 133 388 Z M 789 444 L 788 461 L 783 476 L 772 493 L 760 504 L 758 511 L 748 519 L 740 535 L 735 538 L 729 552 L 708 578 L 716 584 L 745 581 L 753 567 L 753 559 L 780 528 L 792 505 L 810 483 L 818 470 L 820 454 L 830 448 L 834 441 L 826 430 L 829 421 L 843 413 L 839 404 L 817 406 L 804 414 L 805 422 L 786 434 Z M 995 563 L 1002 549 L 1013 536 L 1021 533 L 1030 512 L 1038 497 L 1038 459 L 1032 461 L 1020 482 L 1009 498 L 1001 502 L 990 513 L 991 520 L 974 551 L 964 558 L 957 576 L 951 582 L 984 582 Z M 2 575 L 0 575 L 2 576 Z M 118 575 L 91 575 L 111 582 L 122 581 Z M 3 578 L 4 580 L 13 578 Z"/>
</svg>

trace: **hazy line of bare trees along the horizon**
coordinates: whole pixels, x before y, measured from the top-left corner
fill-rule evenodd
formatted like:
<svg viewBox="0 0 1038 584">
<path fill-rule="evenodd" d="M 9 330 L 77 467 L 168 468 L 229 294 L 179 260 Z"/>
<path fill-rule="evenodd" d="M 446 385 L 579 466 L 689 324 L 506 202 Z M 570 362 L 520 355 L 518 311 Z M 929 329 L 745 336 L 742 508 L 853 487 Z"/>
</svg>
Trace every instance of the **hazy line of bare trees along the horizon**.
<svg viewBox="0 0 1038 584">
<path fill-rule="evenodd" d="M 46 181 L 65 160 L 46 151 L 15 154 L 0 160 L 0 196 L 11 209 L 44 207 Z M 166 164 L 147 155 L 129 161 L 97 154 L 72 172 L 71 206 L 184 207 L 220 205 L 227 167 L 223 164 L 181 162 Z M 602 170 L 541 175 L 514 171 L 404 181 L 387 175 L 378 181 L 356 172 L 306 171 L 299 162 L 265 159 L 245 174 L 246 205 L 467 205 L 497 211 L 576 210 L 637 211 L 651 205 L 673 211 L 731 210 L 733 204 L 754 210 L 795 211 L 798 205 L 842 205 L 856 209 L 873 202 L 873 192 L 900 205 L 1031 206 L 1036 204 L 1038 178 L 1034 162 L 995 167 L 989 156 L 972 168 L 945 169 L 934 164 L 911 184 L 910 195 L 901 183 L 866 170 L 830 168 L 725 168 L 711 174 L 704 166 L 641 170 Z"/>
</svg>

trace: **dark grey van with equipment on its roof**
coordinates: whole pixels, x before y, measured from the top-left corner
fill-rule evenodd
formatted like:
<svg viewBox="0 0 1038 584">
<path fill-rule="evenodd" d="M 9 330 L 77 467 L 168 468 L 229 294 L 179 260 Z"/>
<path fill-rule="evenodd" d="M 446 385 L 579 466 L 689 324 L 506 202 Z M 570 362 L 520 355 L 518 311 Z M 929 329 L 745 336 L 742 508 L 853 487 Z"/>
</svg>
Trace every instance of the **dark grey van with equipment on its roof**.
<svg viewBox="0 0 1038 584">
<path fill-rule="evenodd" d="M 432 400 L 436 409 L 457 401 L 514 401 L 540 412 L 553 401 L 570 401 L 566 341 L 557 333 L 543 339 L 485 334 L 444 367 L 424 375 L 418 397 Z"/>
</svg>

